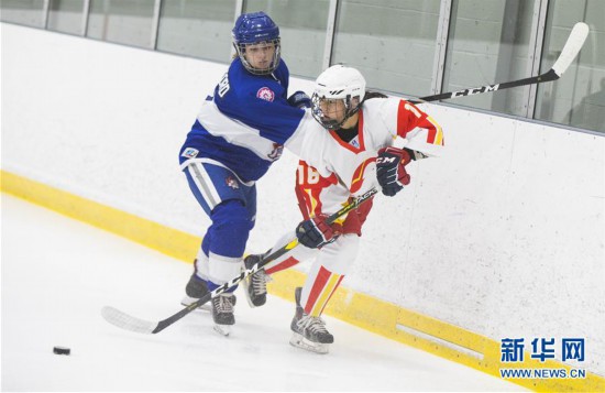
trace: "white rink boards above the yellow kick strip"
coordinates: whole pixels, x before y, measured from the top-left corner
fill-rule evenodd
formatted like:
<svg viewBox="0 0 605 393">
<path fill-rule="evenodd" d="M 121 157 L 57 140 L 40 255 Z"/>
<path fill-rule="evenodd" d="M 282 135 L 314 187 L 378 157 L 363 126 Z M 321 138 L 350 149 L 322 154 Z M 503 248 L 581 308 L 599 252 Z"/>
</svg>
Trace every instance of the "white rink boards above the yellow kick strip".
<svg viewBox="0 0 605 393">
<path fill-rule="evenodd" d="M 204 233 L 177 154 L 224 64 L 4 23 L 1 50 L 2 170 Z M 586 338 L 580 365 L 604 375 L 605 139 L 425 109 L 448 152 L 377 198 L 343 285 L 494 340 Z M 300 219 L 296 163 L 258 182 L 249 252 Z"/>
</svg>

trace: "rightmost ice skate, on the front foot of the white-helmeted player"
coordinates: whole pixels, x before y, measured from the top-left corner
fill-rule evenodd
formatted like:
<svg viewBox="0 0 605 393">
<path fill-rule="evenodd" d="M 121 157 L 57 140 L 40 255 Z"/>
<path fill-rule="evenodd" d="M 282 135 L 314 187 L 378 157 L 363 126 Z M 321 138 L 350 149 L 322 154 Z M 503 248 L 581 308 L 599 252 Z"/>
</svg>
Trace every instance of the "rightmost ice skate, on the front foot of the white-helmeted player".
<svg viewBox="0 0 605 393">
<path fill-rule="evenodd" d="M 300 306 L 301 292 L 301 287 L 295 291 L 296 314 L 290 324 L 290 345 L 316 353 L 328 353 L 334 337 L 326 329 L 326 323 L 321 318 L 305 313 Z"/>
</svg>

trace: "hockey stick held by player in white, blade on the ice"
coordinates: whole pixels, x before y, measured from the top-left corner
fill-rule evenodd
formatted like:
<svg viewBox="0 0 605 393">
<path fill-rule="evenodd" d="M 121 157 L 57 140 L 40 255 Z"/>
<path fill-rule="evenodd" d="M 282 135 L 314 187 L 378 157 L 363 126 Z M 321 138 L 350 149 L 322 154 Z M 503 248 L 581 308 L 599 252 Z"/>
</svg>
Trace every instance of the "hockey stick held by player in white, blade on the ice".
<svg viewBox="0 0 605 393">
<path fill-rule="evenodd" d="M 361 204 L 369 200 L 376 193 L 377 193 L 376 188 L 372 188 L 367 193 L 356 197 L 353 201 L 351 201 L 350 204 L 344 206 L 342 209 L 340 209 L 339 211 L 337 211 L 333 215 L 331 215 L 330 217 L 328 217 L 326 219 L 326 222 L 332 223 L 338 218 L 344 216 L 349 211 L 351 211 L 353 209 L 356 209 Z M 125 313 L 123 313 L 123 312 L 121 312 L 117 308 L 110 307 L 110 306 L 105 306 L 101 309 L 101 315 L 105 318 L 105 320 L 107 320 L 111 325 L 114 325 L 114 326 L 117 326 L 121 329 L 131 330 L 131 331 L 141 332 L 141 334 L 147 334 L 147 335 L 160 332 L 160 331 L 164 330 L 165 328 L 167 328 L 168 326 L 176 323 L 177 320 L 179 320 L 180 318 L 183 318 L 184 316 L 186 316 L 187 314 L 191 313 L 193 310 L 195 310 L 199 306 L 210 302 L 210 299 L 212 297 L 216 297 L 216 296 L 220 295 L 221 293 L 226 292 L 227 290 L 238 285 L 242 280 L 244 280 L 245 277 L 248 277 L 251 274 L 256 273 L 257 271 L 263 269 L 266 264 L 268 264 L 268 263 L 275 261 L 277 258 L 284 255 L 286 252 L 294 249 L 296 245 L 298 245 L 298 239 L 292 240 L 286 245 L 282 247 L 280 249 L 278 249 L 278 250 L 272 252 L 271 254 L 268 254 L 267 256 L 265 256 L 262 261 L 260 261 L 258 263 L 256 263 L 252 268 L 244 270 L 235 279 L 233 279 L 233 280 L 229 281 L 228 283 L 219 286 L 215 291 L 206 294 L 200 299 L 191 303 L 187 307 L 183 308 L 180 312 L 167 317 L 166 319 L 162 319 L 160 321 L 144 320 L 144 319 L 140 319 L 140 318 L 133 317 L 131 315 L 128 315 L 128 314 L 125 314 Z"/>
</svg>

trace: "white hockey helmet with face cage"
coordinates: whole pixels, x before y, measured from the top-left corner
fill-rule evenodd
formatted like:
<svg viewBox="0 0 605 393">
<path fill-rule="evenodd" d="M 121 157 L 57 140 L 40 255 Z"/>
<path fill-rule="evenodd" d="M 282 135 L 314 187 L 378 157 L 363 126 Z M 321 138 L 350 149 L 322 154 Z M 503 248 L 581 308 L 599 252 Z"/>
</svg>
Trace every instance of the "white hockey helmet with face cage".
<svg viewBox="0 0 605 393">
<path fill-rule="evenodd" d="M 365 78 L 363 75 L 355 68 L 341 64 L 333 65 L 316 79 L 311 97 L 311 112 L 314 118 L 326 129 L 338 129 L 360 109 L 364 97 Z M 327 118 L 321 110 L 321 101 L 338 99 L 344 103 L 344 118 L 342 120 Z"/>
</svg>

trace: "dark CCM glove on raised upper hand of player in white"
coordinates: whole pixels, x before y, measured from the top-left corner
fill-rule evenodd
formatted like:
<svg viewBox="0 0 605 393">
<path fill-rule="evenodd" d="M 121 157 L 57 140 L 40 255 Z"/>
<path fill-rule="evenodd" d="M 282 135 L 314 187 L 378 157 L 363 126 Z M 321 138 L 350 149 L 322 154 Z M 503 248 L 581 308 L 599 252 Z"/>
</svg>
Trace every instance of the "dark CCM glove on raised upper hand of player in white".
<svg viewBox="0 0 605 393">
<path fill-rule="evenodd" d="M 409 184 L 406 165 L 410 162 L 409 153 L 397 148 L 383 148 L 376 157 L 376 178 L 383 194 L 394 196 Z"/>
</svg>

